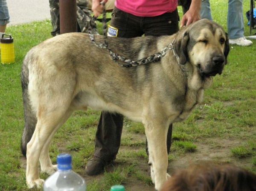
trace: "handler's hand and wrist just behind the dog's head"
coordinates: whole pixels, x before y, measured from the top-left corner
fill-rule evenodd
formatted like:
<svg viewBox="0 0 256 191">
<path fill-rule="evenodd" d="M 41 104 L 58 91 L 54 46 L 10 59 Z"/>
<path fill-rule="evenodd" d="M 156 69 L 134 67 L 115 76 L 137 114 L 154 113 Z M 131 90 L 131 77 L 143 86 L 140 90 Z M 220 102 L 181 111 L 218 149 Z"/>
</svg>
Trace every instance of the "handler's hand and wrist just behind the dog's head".
<svg viewBox="0 0 256 191">
<path fill-rule="evenodd" d="M 200 15 L 201 0 L 192 0 L 189 10 L 183 15 L 180 27 L 194 23 L 201 19 Z"/>
</svg>

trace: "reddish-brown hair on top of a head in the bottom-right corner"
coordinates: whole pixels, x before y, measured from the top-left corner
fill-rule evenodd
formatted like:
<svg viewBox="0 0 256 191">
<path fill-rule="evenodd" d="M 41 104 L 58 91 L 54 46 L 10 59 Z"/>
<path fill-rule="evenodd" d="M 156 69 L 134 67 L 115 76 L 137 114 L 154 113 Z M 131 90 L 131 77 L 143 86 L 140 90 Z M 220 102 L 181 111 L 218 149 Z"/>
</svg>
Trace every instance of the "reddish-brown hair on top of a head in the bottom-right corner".
<svg viewBox="0 0 256 191">
<path fill-rule="evenodd" d="M 195 165 L 177 171 L 161 191 L 256 191 L 256 174 L 234 165 Z"/>
</svg>

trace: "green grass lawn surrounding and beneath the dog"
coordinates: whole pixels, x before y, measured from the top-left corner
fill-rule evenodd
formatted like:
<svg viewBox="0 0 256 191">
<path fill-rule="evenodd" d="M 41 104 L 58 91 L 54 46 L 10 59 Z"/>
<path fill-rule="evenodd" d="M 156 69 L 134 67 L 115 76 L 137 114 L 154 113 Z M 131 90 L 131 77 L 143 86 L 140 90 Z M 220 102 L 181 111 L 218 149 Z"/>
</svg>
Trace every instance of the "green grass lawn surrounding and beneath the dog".
<svg viewBox="0 0 256 191">
<path fill-rule="evenodd" d="M 244 15 L 249 5 L 249 0 L 244 0 Z M 213 20 L 227 29 L 227 0 L 211 1 L 211 7 Z M 180 8 L 179 14 L 182 15 Z M 100 23 L 98 28 L 101 29 Z M 51 38 L 51 29 L 49 20 L 6 29 L 6 33 L 14 37 L 16 63 L 0 65 L 0 190 L 3 191 L 26 190 L 26 160 L 20 152 L 24 125 L 20 67 L 30 48 Z M 249 27 L 245 25 L 245 36 L 248 35 Z M 208 156 L 209 161 L 235 163 L 256 172 L 255 53 L 256 40 L 250 47 L 231 46 L 228 64 L 221 76 L 214 77 L 212 87 L 205 91 L 203 103 L 185 122 L 174 124 L 169 173 L 180 166 L 185 168 L 184 158 L 197 163 L 195 157 L 202 157 L 201 153 L 203 157 Z M 69 152 L 73 156 L 74 171 L 86 179 L 89 191 L 110 190 L 111 185 L 118 183 L 123 183 L 127 190 L 136 190 L 138 185 L 144 186 L 140 187 L 143 190 L 153 190 L 143 125 L 127 119 L 116 162 L 102 175 L 90 177 L 85 174 L 85 166 L 94 151 L 99 113 L 89 109 L 76 111 L 70 117 L 52 140 L 52 162 L 56 162 L 59 153 Z M 225 153 L 222 157 L 211 157 L 215 151 Z M 44 173 L 40 176 L 48 177 Z"/>
</svg>

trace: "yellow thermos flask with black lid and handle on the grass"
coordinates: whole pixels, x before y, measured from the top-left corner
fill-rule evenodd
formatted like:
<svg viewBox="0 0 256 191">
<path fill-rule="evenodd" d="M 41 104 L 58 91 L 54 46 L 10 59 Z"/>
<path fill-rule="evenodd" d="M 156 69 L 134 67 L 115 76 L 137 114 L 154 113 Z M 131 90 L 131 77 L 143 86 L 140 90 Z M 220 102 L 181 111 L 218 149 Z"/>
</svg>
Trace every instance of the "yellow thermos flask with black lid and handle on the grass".
<svg viewBox="0 0 256 191">
<path fill-rule="evenodd" d="M 13 38 L 9 34 L 2 34 L 0 38 L 1 63 L 15 63 Z"/>
</svg>

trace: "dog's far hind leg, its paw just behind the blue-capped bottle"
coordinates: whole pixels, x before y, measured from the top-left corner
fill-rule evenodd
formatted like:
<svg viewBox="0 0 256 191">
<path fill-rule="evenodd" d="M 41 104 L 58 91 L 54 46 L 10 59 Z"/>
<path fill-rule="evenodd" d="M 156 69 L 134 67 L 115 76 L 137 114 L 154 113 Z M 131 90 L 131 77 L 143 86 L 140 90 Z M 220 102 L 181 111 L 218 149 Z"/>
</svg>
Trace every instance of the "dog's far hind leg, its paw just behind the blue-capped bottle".
<svg viewBox="0 0 256 191">
<path fill-rule="evenodd" d="M 39 158 L 40 165 L 41 165 L 41 171 L 46 172 L 48 174 L 53 174 L 57 170 L 57 165 L 52 165 L 52 161 L 49 157 L 49 146 L 52 140 L 52 137 L 56 133 L 56 131 L 67 121 L 67 119 L 70 117 L 70 115 L 73 113 L 73 110 L 69 109 L 64 117 L 62 118 L 61 122 L 57 125 L 57 127 L 52 131 L 52 134 L 47 139 L 47 142 L 45 143 L 41 155 Z"/>
</svg>

